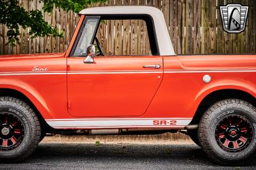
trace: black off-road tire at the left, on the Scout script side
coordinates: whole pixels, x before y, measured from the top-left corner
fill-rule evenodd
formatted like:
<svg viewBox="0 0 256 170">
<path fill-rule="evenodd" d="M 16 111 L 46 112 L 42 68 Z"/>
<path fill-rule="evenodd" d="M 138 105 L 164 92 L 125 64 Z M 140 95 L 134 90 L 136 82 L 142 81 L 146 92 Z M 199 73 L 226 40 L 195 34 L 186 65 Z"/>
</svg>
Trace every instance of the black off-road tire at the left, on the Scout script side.
<svg viewBox="0 0 256 170">
<path fill-rule="evenodd" d="M 22 139 L 20 138 L 15 148 L 6 150 L 2 147 L 0 150 L 0 160 L 4 163 L 21 162 L 35 151 L 36 146 L 40 142 L 40 122 L 28 104 L 13 97 L 0 97 L 0 114 L 16 116 L 17 119 L 20 118 L 20 124 L 24 125 Z"/>
</svg>

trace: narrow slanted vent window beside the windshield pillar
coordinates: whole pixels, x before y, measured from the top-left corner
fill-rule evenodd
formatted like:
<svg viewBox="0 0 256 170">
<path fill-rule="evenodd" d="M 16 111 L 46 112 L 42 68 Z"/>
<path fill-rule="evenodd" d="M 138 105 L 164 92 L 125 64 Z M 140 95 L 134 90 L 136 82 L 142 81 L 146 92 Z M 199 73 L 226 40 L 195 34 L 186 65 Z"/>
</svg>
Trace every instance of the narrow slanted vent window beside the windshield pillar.
<svg viewBox="0 0 256 170">
<path fill-rule="evenodd" d="M 88 45 L 92 43 L 92 38 L 97 28 L 99 19 L 86 19 L 85 26 L 82 27 L 80 33 L 81 36 L 77 42 L 76 49 L 74 50 L 73 56 L 85 56 Z"/>
</svg>

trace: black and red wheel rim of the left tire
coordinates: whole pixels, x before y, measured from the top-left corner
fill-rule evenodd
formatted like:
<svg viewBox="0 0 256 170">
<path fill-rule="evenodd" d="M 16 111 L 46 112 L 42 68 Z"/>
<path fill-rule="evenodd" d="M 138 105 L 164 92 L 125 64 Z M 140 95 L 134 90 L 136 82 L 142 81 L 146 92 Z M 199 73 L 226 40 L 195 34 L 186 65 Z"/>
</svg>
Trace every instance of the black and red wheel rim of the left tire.
<svg viewBox="0 0 256 170">
<path fill-rule="evenodd" d="M 0 112 L 0 150 L 17 148 L 24 137 L 24 125 L 11 112 Z"/>
</svg>

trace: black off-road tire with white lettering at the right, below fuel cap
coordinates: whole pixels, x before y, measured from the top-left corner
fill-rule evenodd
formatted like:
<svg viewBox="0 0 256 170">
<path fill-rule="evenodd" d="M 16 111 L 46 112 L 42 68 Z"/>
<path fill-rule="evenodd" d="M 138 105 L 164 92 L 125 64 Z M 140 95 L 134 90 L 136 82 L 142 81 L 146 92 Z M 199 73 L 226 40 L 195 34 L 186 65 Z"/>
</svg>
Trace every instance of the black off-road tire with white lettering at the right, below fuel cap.
<svg viewBox="0 0 256 170">
<path fill-rule="evenodd" d="M 248 133 L 248 136 L 250 137 L 248 137 L 248 141 L 246 140 L 247 144 L 244 142 L 244 148 L 241 148 L 241 150 L 230 151 L 225 148 L 223 149 L 223 146 L 221 146 L 220 142 L 218 141 L 221 140 L 221 137 L 223 136 L 220 137 L 220 135 L 216 135 L 216 132 L 218 130 L 218 128 L 216 127 L 218 127 L 221 122 L 223 122 L 223 120 L 228 118 L 241 118 L 241 121 L 247 122 L 248 125 L 251 125 L 251 128 L 249 129 L 250 131 L 248 130 L 244 132 Z M 229 125 L 231 125 L 231 123 Z M 229 125 L 227 125 L 226 129 L 224 129 L 228 130 Z M 238 124 L 236 126 L 238 126 Z M 230 131 L 227 132 L 231 134 Z M 243 100 L 227 99 L 221 100 L 220 102 L 217 102 L 216 104 L 209 107 L 209 109 L 207 109 L 204 116 L 202 116 L 202 119 L 200 120 L 198 137 L 200 146 L 203 148 L 207 156 L 211 158 L 212 161 L 224 166 L 241 166 L 255 158 L 255 132 L 256 108 L 252 104 L 249 104 L 248 102 L 245 102 Z M 227 141 L 226 136 L 224 140 Z M 238 145 L 233 143 L 234 142 L 232 141 L 231 145 L 233 145 L 234 150 L 236 150 Z M 239 143 L 241 144 L 240 141 Z M 231 147 L 229 142 L 227 147 Z"/>
</svg>

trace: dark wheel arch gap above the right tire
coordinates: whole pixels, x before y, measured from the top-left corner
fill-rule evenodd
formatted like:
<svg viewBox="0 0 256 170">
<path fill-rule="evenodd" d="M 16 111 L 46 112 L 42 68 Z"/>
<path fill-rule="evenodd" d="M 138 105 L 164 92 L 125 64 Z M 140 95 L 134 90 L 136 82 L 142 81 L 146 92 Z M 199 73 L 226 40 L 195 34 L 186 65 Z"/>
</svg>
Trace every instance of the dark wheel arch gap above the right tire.
<svg viewBox="0 0 256 170">
<path fill-rule="evenodd" d="M 227 98 L 237 98 L 249 102 L 250 104 L 256 106 L 256 98 L 252 93 L 245 91 L 243 89 L 235 89 L 235 88 L 228 88 L 228 89 L 218 89 L 216 91 L 212 91 L 211 93 L 205 95 L 202 99 L 200 104 L 198 105 L 195 115 L 190 125 L 198 124 L 200 119 L 202 118 L 204 112 L 216 102 L 220 100 L 225 100 Z"/>
</svg>

